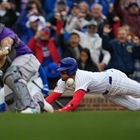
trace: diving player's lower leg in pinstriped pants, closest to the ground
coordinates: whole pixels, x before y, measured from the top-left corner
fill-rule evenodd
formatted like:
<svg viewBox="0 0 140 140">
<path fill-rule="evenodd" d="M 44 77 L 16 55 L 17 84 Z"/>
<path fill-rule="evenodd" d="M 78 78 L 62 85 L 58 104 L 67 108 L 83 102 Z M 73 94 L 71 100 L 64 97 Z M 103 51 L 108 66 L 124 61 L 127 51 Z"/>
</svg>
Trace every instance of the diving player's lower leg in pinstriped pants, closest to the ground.
<svg viewBox="0 0 140 140">
<path fill-rule="evenodd" d="M 140 110 L 140 98 L 134 98 L 132 96 L 127 95 L 118 95 L 118 96 L 105 96 L 107 99 L 112 101 L 113 103 L 128 108 L 130 110 Z"/>
</svg>

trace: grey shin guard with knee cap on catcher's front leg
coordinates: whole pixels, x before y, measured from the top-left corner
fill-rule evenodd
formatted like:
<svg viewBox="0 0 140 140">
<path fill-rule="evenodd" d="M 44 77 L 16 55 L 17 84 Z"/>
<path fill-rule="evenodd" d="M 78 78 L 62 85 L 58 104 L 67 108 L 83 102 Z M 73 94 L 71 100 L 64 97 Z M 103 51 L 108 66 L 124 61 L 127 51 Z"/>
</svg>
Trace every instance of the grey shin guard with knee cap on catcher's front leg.
<svg viewBox="0 0 140 140">
<path fill-rule="evenodd" d="M 21 78 L 18 67 L 10 66 L 4 74 L 3 81 L 13 91 L 16 100 L 16 110 L 21 111 L 31 105 L 31 97 L 27 85 Z"/>
</svg>

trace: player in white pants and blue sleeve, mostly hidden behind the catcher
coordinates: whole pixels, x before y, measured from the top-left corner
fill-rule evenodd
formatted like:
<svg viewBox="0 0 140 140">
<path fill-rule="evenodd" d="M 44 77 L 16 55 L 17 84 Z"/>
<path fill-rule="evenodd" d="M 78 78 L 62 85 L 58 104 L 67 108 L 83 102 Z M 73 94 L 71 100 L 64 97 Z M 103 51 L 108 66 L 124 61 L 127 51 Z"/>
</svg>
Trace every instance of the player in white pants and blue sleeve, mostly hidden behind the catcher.
<svg viewBox="0 0 140 140">
<path fill-rule="evenodd" d="M 40 65 L 38 73 L 33 76 L 27 84 L 28 90 L 30 91 L 31 97 L 40 105 L 41 111 L 53 112 L 53 107 L 45 102 L 44 97 L 48 95 L 49 88 L 47 86 L 47 80 L 45 77 L 45 72 L 42 66 Z M 45 85 L 45 86 L 44 86 Z M 6 93 L 4 88 L 0 90 L 0 112 L 4 112 L 6 109 L 5 104 L 5 95 L 6 98 L 11 96 L 12 91 L 9 90 Z M 7 102 L 7 101 L 6 101 Z M 15 112 L 15 102 L 7 104 L 7 110 L 9 112 Z M 22 113 L 32 113 L 29 109 L 22 111 Z"/>
</svg>

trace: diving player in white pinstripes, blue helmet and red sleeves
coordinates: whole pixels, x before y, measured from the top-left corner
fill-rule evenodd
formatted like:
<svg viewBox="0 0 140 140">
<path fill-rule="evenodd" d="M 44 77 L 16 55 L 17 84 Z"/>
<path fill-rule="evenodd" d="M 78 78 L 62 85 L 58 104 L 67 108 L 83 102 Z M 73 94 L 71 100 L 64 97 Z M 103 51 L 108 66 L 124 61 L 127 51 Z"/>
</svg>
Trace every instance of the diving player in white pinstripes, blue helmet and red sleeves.
<svg viewBox="0 0 140 140">
<path fill-rule="evenodd" d="M 140 110 L 140 84 L 131 80 L 116 69 L 108 69 L 102 72 L 89 72 L 79 70 L 76 60 L 66 57 L 60 61 L 58 71 L 61 78 L 50 96 L 45 100 L 52 104 L 66 90 L 73 90 L 72 100 L 63 108 L 56 111 L 66 112 L 74 110 L 81 102 L 86 93 L 102 94 L 105 98 L 126 107 L 130 110 Z M 68 79 L 73 78 L 74 83 L 68 83 Z"/>
</svg>

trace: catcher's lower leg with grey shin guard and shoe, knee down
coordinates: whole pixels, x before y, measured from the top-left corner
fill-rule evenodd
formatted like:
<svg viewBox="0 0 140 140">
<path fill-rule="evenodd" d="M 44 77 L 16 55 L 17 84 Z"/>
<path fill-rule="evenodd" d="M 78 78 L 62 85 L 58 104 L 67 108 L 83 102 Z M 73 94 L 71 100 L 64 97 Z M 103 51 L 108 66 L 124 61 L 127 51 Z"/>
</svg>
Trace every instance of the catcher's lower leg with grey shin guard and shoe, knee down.
<svg viewBox="0 0 140 140">
<path fill-rule="evenodd" d="M 11 66 L 4 75 L 4 83 L 12 90 L 11 96 L 6 96 L 6 103 L 16 103 L 16 110 L 22 111 L 30 107 L 35 112 L 40 112 L 38 104 L 30 96 L 26 81 L 22 79 L 18 67 Z M 5 92 L 7 92 L 5 88 Z M 13 104 L 11 103 L 11 104 Z"/>
</svg>

